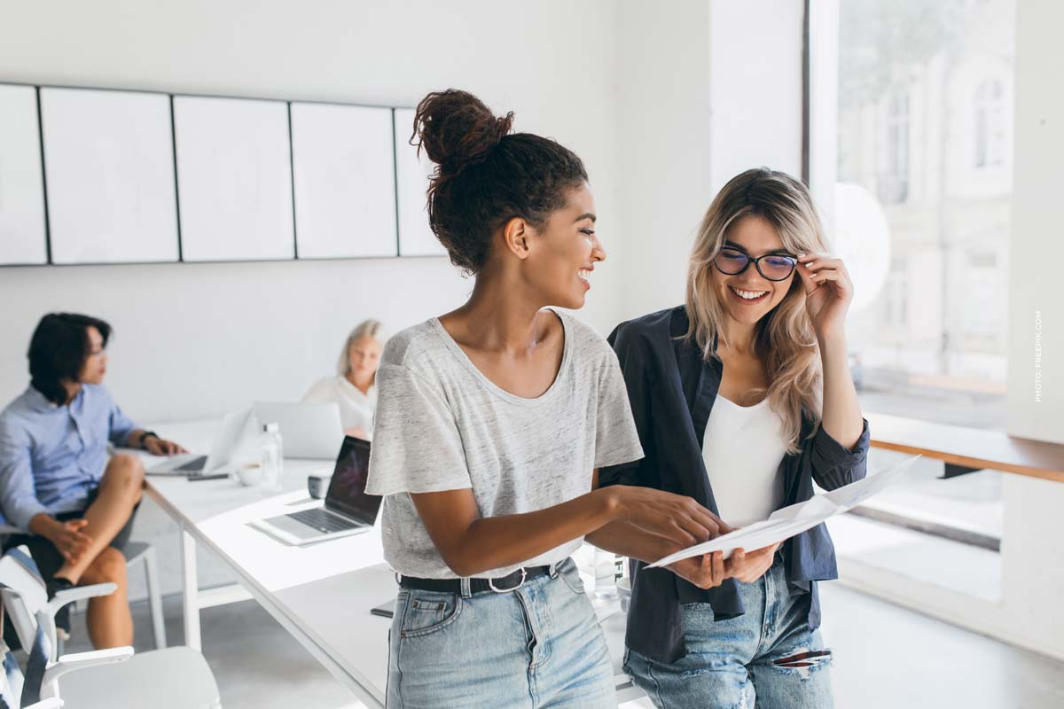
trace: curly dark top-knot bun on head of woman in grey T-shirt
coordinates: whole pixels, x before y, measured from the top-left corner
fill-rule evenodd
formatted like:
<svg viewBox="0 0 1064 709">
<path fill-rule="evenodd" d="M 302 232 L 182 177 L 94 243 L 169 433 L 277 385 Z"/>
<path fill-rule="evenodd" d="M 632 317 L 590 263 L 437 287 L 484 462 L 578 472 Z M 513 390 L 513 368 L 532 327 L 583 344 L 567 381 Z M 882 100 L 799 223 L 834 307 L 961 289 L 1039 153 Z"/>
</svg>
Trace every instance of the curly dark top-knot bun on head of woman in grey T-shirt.
<svg viewBox="0 0 1064 709">
<path fill-rule="evenodd" d="M 513 112 L 496 118 L 468 91 L 434 91 L 417 104 L 411 144 L 423 149 L 440 173 L 458 174 L 466 166 L 487 159 L 513 122 Z"/>
</svg>

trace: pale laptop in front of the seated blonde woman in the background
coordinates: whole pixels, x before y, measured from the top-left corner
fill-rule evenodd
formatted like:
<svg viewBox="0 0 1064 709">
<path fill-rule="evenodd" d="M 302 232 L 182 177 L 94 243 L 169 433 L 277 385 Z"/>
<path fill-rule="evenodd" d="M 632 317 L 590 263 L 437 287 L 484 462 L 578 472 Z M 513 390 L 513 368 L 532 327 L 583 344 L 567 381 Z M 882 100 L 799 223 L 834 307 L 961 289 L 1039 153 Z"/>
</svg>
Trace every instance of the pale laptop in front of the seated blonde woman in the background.
<svg viewBox="0 0 1064 709">
<path fill-rule="evenodd" d="M 285 458 L 332 460 L 344 442 L 336 402 L 255 402 L 254 409 L 260 423 L 280 426 Z"/>
</svg>

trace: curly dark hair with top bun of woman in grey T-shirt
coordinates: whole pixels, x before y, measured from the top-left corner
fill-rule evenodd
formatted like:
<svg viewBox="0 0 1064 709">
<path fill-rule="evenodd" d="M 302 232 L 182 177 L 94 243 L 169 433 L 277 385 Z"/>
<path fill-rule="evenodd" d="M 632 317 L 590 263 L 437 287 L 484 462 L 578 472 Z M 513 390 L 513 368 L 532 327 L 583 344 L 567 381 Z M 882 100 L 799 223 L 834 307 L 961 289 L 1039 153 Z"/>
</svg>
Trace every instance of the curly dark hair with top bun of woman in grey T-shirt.
<svg viewBox="0 0 1064 709">
<path fill-rule="evenodd" d="M 587 180 L 584 164 L 555 140 L 511 133 L 514 114 L 497 118 L 472 94 L 429 94 L 417 105 L 411 145 L 436 164 L 429 183 L 429 224 L 451 263 L 477 273 L 492 235 L 514 217 L 536 227 Z"/>
</svg>

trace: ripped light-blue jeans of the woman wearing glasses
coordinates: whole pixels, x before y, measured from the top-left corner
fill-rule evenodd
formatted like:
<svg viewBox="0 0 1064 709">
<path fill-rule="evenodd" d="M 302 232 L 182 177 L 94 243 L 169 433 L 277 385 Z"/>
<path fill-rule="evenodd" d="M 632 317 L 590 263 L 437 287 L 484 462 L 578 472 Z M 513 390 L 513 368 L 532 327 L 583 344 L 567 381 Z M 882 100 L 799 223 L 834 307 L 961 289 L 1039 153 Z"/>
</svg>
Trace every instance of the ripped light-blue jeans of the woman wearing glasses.
<svg viewBox="0 0 1064 709">
<path fill-rule="evenodd" d="M 687 604 L 687 654 L 666 664 L 629 649 L 625 672 L 660 709 L 829 709 L 831 652 L 809 629 L 809 593 L 787 584 L 779 555 L 738 586 L 744 614 L 714 621 L 709 604 Z"/>
</svg>

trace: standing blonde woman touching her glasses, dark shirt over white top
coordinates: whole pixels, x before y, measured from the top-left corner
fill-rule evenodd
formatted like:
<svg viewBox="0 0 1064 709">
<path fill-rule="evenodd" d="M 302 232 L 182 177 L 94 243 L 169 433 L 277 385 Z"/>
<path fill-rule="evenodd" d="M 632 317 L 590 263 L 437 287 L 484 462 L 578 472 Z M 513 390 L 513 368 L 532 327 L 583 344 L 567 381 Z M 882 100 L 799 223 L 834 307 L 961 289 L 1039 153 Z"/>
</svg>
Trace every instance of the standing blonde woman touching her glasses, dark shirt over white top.
<svg viewBox="0 0 1064 709">
<path fill-rule="evenodd" d="M 647 455 L 602 470 L 603 485 L 689 495 L 739 527 L 808 500 L 814 482 L 831 490 L 864 477 L 868 424 L 844 331 L 853 286 L 826 251 L 797 180 L 758 169 L 724 187 L 697 238 L 686 305 L 610 337 Z M 612 543 L 625 546 L 621 535 Z M 831 652 L 817 631 L 816 583 L 837 576 L 825 526 L 736 552 L 705 583 L 679 564 L 644 565 L 633 561 L 625 668 L 658 707 L 831 706 Z"/>
</svg>

